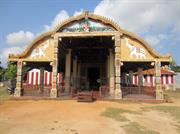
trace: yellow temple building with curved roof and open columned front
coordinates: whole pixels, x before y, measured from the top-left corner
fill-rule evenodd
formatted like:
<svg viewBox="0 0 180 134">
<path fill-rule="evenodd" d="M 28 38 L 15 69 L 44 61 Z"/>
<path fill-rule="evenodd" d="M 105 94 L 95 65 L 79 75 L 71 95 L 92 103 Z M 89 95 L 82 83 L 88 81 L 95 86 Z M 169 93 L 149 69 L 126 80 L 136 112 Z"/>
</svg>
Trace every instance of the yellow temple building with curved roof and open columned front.
<svg viewBox="0 0 180 134">
<path fill-rule="evenodd" d="M 38 36 L 21 54 L 10 54 L 9 61 L 17 62 L 16 97 L 29 89 L 51 98 L 106 90 L 106 97 L 122 99 L 137 90 L 163 100 L 161 67 L 169 65 L 172 57 L 158 54 L 112 20 L 83 12 Z M 147 69 L 154 70 L 153 89 L 143 83 Z"/>
</svg>

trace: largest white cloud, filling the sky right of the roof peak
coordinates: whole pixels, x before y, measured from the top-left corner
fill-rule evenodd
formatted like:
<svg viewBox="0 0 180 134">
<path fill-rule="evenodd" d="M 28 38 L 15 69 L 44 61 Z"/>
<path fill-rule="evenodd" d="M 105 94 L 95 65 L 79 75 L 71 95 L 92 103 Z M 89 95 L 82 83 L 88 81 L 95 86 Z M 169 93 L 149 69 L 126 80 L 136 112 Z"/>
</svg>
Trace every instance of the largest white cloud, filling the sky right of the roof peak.
<svg viewBox="0 0 180 134">
<path fill-rule="evenodd" d="M 168 25 L 179 27 L 180 1 L 103 0 L 94 13 L 114 19 L 127 30 L 142 33 L 152 27 L 157 30 Z"/>
</svg>

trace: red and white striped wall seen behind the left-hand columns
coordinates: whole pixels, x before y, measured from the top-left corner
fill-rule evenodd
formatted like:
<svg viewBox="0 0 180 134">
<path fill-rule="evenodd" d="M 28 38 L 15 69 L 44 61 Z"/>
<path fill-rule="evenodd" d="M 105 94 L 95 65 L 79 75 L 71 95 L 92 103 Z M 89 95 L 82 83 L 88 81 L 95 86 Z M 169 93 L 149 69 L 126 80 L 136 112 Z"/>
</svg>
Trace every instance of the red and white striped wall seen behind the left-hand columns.
<svg viewBox="0 0 180 134">
<path fill-rule="evenodd" d="M 62 73 L 58 73 L 58 83 L 62 82 Z M 28 85 L 39 85 L 40 84 L 40 70 L 32 69 L 27 72 L 26 83 Z M 44 85 L 49 86 L 52 84 L 52 72 L 44 71 Z"/>
</svg>

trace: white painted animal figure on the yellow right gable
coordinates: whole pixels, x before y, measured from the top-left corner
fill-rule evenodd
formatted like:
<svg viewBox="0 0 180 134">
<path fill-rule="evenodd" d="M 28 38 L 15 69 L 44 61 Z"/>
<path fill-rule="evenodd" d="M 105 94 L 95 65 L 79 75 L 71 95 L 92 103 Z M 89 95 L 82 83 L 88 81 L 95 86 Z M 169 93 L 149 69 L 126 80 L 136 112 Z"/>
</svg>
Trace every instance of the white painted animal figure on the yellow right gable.
<svg viewBox="0 0 180 134">
<path fill-rule="evenodd" d="M 136 59 L 146 59 L 146 52 L 143 48 L 132 45 L 131 43 L 129 43 L 128 39 L 126 39 L 126 44 L 131 50 L 131 57 L 135 57 Z"/>
</svg>

